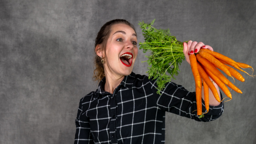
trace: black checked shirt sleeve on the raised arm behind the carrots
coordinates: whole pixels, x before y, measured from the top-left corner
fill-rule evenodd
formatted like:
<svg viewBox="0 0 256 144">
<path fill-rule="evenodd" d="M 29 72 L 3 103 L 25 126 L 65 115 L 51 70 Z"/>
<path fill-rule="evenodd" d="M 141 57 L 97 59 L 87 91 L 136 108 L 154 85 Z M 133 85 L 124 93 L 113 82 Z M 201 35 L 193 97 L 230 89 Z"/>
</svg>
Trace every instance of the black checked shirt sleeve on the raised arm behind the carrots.
<svg viewBox="0 0 256 144">
<path fill-rule="evenodd" d="M 156 104 L 160 109 L 175 113 L 180 116 L 191 118 L 196 121 L 209 122 L 219 118 L 224 112 L 223 101 L 218 106 L 209 106 L 209 112 L 204 117 L 199 118 L 197 115 L 196 92 L 188 92 L 182 85 L 168 82 L 162 90 L 161 95 L 157 94 L 156 79 L 150 79 L 152 91 L 155 95 Z M 221 100 L 223 99 L 220 92 Z M 204 100 L 202 99 L 202 111 L 207 112 Z"/>
</svg>

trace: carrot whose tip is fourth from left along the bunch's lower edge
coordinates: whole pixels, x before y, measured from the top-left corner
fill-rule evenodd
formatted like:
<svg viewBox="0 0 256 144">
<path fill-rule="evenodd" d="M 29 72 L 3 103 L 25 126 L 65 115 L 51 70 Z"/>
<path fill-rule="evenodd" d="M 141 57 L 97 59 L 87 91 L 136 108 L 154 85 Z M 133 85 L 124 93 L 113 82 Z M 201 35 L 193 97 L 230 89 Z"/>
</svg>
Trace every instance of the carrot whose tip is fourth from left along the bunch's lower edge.
<svg viewBox="0 0 256 144">
<path fill-rule="evenodd" d="M 212 78 L 212 80 L 220 87 L 220 89 L 222 89 L 222 91 L 224 92 L 224 94 L 226 95 L 226 96 L 228 96 L 230 99 L 232 99 L 232 95 L 231 95 L 231 93 L 229 92 L 229 89 L 226 87 L 226 85 L 222 82 L 222 81 L 220 81 L 220 79 L 219 78 L 217 78 L 216 76 L 214 76 L 214 74 L 213 73 L 211 73 L 205 66 L 202 66 L 203 67 L 203 69 L 205 70 L 205 72 L 208 74 L 208 76 L 210 77 L 210 78 Z"/>
</svg>

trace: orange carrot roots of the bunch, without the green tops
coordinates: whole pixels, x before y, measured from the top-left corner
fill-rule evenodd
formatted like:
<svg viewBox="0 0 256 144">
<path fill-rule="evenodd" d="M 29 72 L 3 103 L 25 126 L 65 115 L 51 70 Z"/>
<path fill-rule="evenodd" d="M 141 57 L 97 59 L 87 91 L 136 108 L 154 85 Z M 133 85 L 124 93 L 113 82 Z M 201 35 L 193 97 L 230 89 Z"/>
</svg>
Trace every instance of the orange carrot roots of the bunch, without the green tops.
<svg viewBox="0 0 256 144">
<path fill-rule="evenodd" d="M 189 58 L 190 58 L 193 76 L 196 82 L 197 115 L 200 115 L 200 117 L 203 116 L 202 115 L 202 86 L 204 89 L 204 104 L 207 112 L 209 111 L 209 88 L 212 91 L 214 98 L 218 102 L 221 102 L 218 92 L 213 82 L 209 79 L 209 77 L 212 78 L 212 80 L 219 86 L 219 88 L 223 90 L 223 92 L 230 98 L 230 100 L 232 99 L 231 93 L 229 92 L 229 89 L 226 87 L 226 85 L 228 85 L 228 87 L 233 89 L 235 92 L 242 93 L 241 90 L 237 88 L 233 83 L 231 83 L 217 68 L 222 70 L 228 76 L 230 77 L 233 76 L 241 82 L 244 82 L 245 79 L 234 68 L 242 72 L 245 72 L 245 71 L 241 70 L 241 68 L 252 68 L 251 66 L 245 63 L 235 62 L 229 57 L 226 57 L 218 52 L 214 52 L 208 49 L 200 49 L 198 54 L 196 55 L 192 54 L 190 55 Z M 233 66 L 234 68 L 228 65 Z M 253 68 L 252 68 L 252 71 L 254 71 Z M 252 76 L 250 74 L 248 75 Z"/>
</svg>

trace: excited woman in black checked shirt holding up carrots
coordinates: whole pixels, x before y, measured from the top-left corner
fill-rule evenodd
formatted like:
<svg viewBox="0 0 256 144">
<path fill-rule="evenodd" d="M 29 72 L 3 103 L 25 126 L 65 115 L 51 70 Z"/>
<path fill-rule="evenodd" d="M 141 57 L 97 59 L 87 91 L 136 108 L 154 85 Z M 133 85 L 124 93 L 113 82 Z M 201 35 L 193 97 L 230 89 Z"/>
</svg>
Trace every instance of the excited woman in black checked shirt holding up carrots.
<svg viewBox="0 0 256 144">
<path fill-rule="evenodd" d="M 189 55 L 200 48 L 213 50 L 202 42 L 188 41 L 183 45 L 188 63 Z M 210 89 L 209 112 L 199 118 L 194 111 L 195 92 L 170 82 L 159 95 L 156 80 L 133 73 L 138 55 L 137 34 L 126 20 L 112 20 L 102 26 L 95 40 L 95 52 L 94 78 L 101 81 L 95 92 L 80 100 L 75 122 L 76 144 L 164 143 L 166 111 L 204 122 L 213 121 L 223 113 L 223 102 L 218 103 Z"/>
</svg>

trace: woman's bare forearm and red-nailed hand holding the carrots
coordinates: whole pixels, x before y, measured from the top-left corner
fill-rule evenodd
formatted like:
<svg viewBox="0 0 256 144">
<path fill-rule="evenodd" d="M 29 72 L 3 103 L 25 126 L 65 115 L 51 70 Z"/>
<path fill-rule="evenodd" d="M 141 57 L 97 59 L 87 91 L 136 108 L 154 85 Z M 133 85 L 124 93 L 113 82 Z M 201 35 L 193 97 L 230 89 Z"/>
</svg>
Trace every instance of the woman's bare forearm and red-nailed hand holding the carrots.
<svg viewBox="0 0 256 144">
<path fill-rule="evenodd" d="M 191 41 L 191 40 L 188 41 L 188 43 L 183 43 L 183 46 L 184 46 L 183 53 L 186 57 L 186 61 L 189 64 L 190 64 L 189 55 L 194 54 L 194 53 L 198 53 L 201 48 L 209 49 L 209 50 L 213 51 L 213 48 L 211 46 L 204 45 L 202 42 L 197 43 L 196 41 Z M 211 78 L 210 78 L 210 80 L 212 81 Z M 214 86 L 217 89 L 217 92 L 218 92 L 219 98 L 220 98 L 219 87 L 216 83 L 214 83 Z M 203 88 L 202 88 L 202 99 L 204 100 Z M 218 106 L 219 104 L 220 103 L 214 98 L 214 95 L 213 95 L 212 91 L 209 89 L 209 105 Z"/>
</svg>

